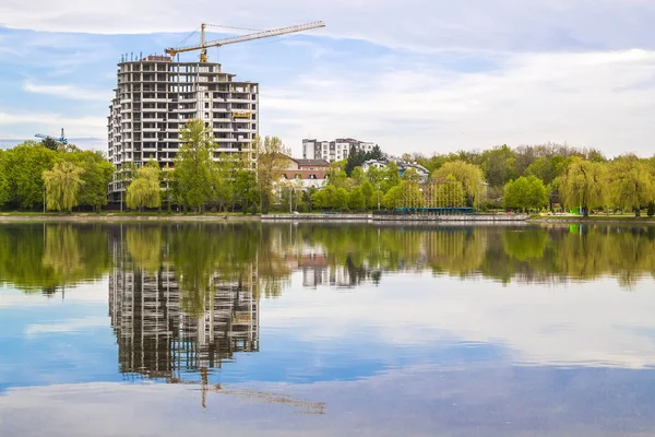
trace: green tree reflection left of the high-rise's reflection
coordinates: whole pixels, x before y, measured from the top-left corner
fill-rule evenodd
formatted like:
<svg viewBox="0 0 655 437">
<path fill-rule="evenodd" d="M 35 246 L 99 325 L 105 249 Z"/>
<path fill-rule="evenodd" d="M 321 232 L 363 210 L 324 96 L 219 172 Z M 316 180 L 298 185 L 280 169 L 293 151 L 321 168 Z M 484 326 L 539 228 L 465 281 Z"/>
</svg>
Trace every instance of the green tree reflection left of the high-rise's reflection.
<svg viewBox="0 0 655 437">
<path fill-rule="evenodd" d="M 111 268 L 107 241 L 99 225 L 0 226 L 0 282 L 51 293 L 102 277 Z"/>
</svg>

